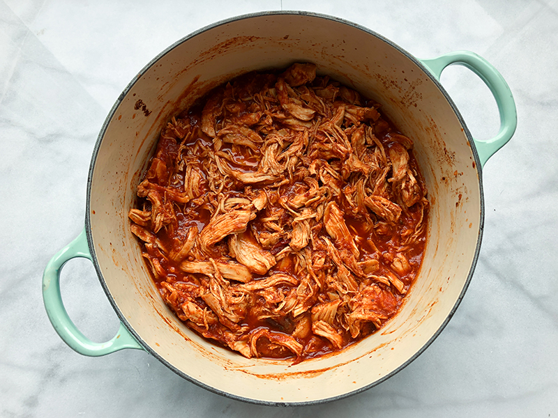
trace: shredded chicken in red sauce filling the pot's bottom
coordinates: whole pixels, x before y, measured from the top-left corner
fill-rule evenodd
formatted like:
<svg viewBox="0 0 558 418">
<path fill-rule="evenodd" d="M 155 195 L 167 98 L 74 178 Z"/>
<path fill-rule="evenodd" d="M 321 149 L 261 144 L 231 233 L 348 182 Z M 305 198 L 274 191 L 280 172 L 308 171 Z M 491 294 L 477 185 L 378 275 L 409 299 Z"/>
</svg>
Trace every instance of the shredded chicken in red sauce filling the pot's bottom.
<svg viewBox="0 0 558 418">
<path fill-rule="evenodd" d="M 163 300 L 245 357 L 303 359 L 382 327 L 425 246 L 413 141 L 312 63 L 250 73 L 163 128 L 130 231 Z"/>
</svg>

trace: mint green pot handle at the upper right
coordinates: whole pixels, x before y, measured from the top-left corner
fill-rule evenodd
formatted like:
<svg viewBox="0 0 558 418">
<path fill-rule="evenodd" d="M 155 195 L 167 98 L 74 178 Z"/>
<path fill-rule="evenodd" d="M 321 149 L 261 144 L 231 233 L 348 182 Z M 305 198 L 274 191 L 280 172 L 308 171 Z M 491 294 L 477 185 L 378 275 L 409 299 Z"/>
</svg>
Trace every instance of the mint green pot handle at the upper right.
<svg viewBox="0 0 558 418">
<path fill-rule="evenodd" d="M 420 61 L 432 72 L 438 81 L 444 68 L 448 65 L 458 64 L 472 70 L 478 77 L 481 77 L 483 82 L 490 88 L 496 100 L 496 104 L 498 105 L 500 130 L 494 138 L 488 141 L 473 139 L 478 158 L 481 160 L 481 166 L 484 167 L 487 160 L 492 157 L 497 150 L 507 144 L 518 125 L 518 114 L 515 109 L 515 102 L 506 80 L 504 80 L 504 77 L 502 77 L 492 64 L 474 52 L 455 51 L 437 58 L 421 59 Z"/>
</svg>

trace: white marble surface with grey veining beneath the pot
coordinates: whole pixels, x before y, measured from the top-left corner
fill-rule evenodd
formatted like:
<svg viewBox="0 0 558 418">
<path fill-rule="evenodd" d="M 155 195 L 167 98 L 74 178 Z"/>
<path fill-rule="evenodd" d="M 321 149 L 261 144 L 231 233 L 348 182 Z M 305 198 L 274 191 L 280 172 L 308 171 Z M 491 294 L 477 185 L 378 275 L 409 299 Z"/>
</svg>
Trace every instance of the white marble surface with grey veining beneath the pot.
<svg viewBox="0 0 558 418">
<path fill-rule="evenodd" d="M 74 353 L 40 293 L 47 261 L 83 227 L 98 130 L 130 79 L 179 38 L 261 10 L 299 9 L 368 26 L 418 57 L 457 49 L 504 75 L 512 141 L 486 164 L 485 233 L 446 330 L 406 369 L 350 398 L 250 405 L 183 380 L 146 353 Z M 557 417 L 558 1 L 0 0 L 0 417 Z M 497 131 L 479 79 L 442 82 L 477 138 Z M 116 315 L 93 267 L 68 263 L 62 293 L 91 339 Z"/>
</svg>

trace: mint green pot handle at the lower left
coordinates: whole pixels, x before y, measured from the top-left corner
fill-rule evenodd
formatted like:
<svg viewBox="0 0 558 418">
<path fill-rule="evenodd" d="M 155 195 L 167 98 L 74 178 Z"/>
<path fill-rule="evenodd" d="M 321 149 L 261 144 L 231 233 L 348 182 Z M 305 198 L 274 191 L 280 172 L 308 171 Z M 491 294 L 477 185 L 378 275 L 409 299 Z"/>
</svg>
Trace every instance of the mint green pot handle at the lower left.
<svg viewBox="0 0 558 418">
<path fill-rule="evenodd" d="M 60 272 L 62 267 L 67 261 L 75 257 L 83 257 L 92 261 L 91 252 L 87 246 L 85 229 L 75 240 L 58 251 L 50 259 L 43 273 L 43 301 L 45 302 L 45 309 L 54 330 L 70 348 L 73 348 L 73 350 L 82 355 L 97 357 L 114 353 L 123 348 L 142 350 L 143 347 L 140 343 L 137 343 L 134 336 L 128 332 L 122 323 L 116 335 L 106 343 L 93 343 L 93 341 L 77 329 L 64 308 L 60 294 Z"/>
</svg>

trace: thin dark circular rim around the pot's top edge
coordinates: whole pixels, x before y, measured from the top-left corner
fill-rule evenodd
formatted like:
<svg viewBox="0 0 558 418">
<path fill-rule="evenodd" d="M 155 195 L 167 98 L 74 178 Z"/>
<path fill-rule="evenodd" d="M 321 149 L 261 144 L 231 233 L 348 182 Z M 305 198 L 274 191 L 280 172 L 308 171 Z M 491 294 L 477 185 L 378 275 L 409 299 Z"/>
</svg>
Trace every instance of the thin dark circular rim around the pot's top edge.
<svg viewBox="0 0 558 418">
<path fill-rule="evenodd" d="M 149 346 L 141 338 L 141 336 L 138 335 L 137 332 L 135 332 L 134 328 L 130 325 L 130 323 L 128 323 L 128 320 L 126 320 L 126 316 L 124 316 L 123 313 L 120 311 L 118 305 L 116 304 L 116 301 L 113 299 L 113 297 L 112 297 L 112 295 L 111 295 L 111 293 L 110 293 L 110 291 L 107 287 L 107 284 L 105 283 L 105 278 L 103 277 L 103 271 L 101 270 L 100 265 L 98 263 L 95 247 L 93 246 L 93 237 L 91 235 L 91 184 L 93 183 L 93 171 L 95 169 L 95 164 L 96 164 L 96 160 L 97 160 L 98 153 L 99 153 L 99 150 L 100 150 L 100 146 L 103 142 L 103 138 L 105 137 L 107 127 L 110 124 L 110 122 L 112 121 L 112 118 L 114 117 L 114 114 L 116 113 L 116 109 L 118 109 L 120 104 L 123 102 L 123 99 L 126 97 L 128 92 L 133 88 L 133 86 L 135 86 L 136 82 L 153 66 L 154 63 L 158 62 L 161 58 L 163 58 L 163 56 L 165 56 L 166 54 L 171 52 L 174 48 L 183 44 L 183 42 L 186 42 L 186 41 L 188 41 L 192 38 L 195 38 L 195 36 L 198 36 L 199 34 L 204 33 L 206 31 L 210 31 L 212 29 L 216 29 L 219 26 L 223 26 L 225 24 L 229 24 L 229 23 L 236 22 L 236 21 L 239 21 L 239 20 L 246 20 L 246 19 L 251 19 L 251 18 L 254 18 L 254 17 L 264 17 L 264 16 L 270 16 L 270 15 L 271 16 L 275 16 L 275 15 L 294 15 L 294 16 L 317 17 L 319 19 L 331 20 L 333 22 L 338 22 L 338 23 L 341 23 L 341 24 L 352 26 L 355 29 L 359 29 L 360 31 L 368 33 L 368 35 L 374 36 L 375 38 L 377 38 L 379 40 L 382 40 L 387 45 L 397 49 L 398 52 L 405 55 L 407 57 L 407 59 L 409 59 L 415 65 L 417 65 L 418 68 L 421 68 L 421 70 L 423 70 L 423 72 L 432 80 L 432 82 L 435 84 L 435 86 L 437 86 L 439 91 L 444 95 L 444 98 L 446 99 L 449 106 L 451 107 L 451 109 L 455 113 L 455 116 L 457 116 L 458 121 L 460 122 L 460 125 L 463 128 L 463 132 L 465 133 L 465 136 L 467 137 L 467 141 L 469 141 L 469 144 L 470 144 L 473 156 L 474 156 L 476 171 L 477 171 L 477 174 L 478 174 L 477 177 L 478 177 L 478 187 L 479 187 L 479 194 L 480 194 L 481 217 L 479 219 L 480 222 L 479 222 L 479 226 L 478 226 L 478 237 L 477 237 L 477 241 L 476 241 L 476 248 L 475 248 L 475 252 L 474 252 L 474 257 L 472 259 L 472 265 L 471 265 L 471 268 L 469 270 L 469 274 L 467 274 L 467 280 L 465 281 L 465 284 L 464 284 L 464 286 L 463 286 L 463 288 L 460 292 L 460 295 L 458 296 L 458 299 L 456 300 L 455 304 L 453 305 L 453 308 L 451 309 L 448 316 L 444 320 L 444 323 L 442 323 L 442 325 L 439 326 L 439 328 L 432 335 L 432 337 L 428 341 L 426 341 L 426 343 L 419 350 L 417 350 L 416 353 L 414 353 L 414 355 L 412 355 L 412 357 L 407 359 L 407 361 L 405 363 L 401 364 L 397 369 L 394 369 L 390 373 L 386 374 L 386 376 L 384 376 L 383 378 L 375 380 L 375 382 L 372 382 L 369 385 L 365 385 L 365 386 L 363 386 L 359 389 L 355 389 L 355 390 L 346 392 L 344 394 L 340 394 L 338 396 L 331 396 L 329 398 L 322 398 L 322 399 L 318 399 L 318 400 L 315 400 L 315 401 L 275 402 L 275 401 L 261 401 L 261 400 L 258 400 L 258 399 L 246 398 L 244 396 L 231 394 L 229 392 L 225 392 L 223 390 L 216 389 L 215 387 L 206 385 L 205 383 L 200 382 L 199 380 L 196 380 L 192 376 L 189 376 L 188 374 L 184 373 L 183 371 L 177 369 L 173 364 L 167 362 L 167 360 L 165 360 L 163 357 L 158 355 L 156 350 L 151 348 L 151 346 Z M 436 77 L 434 77 L 430 73 L 430 71 L 427 68 L 425 68 L 425 65 L 423 65 L 423 63 L 421 63 L 421 61 L 416 59 L 412 54 L 409 54 L 409 52 L 407 52 L 405 49 L 402 49 L 402 47 L 400 47 L 399 45 L 396 45 L 393 41 L 391 41 L 387 38 L 384 38 L 384 36 L 380 35 L 379 33 L 375 32 L 375 31 L 372 31 L 371 29 L 368 29 L 365 26 L 361 26 L 360 24 L 356 24 L 354 22 L 350 22 L 348 20 L 344 20 L 344 19 L 341 19 L 339 17 L 335 17 L 335 16 L 331 16 L 331 15 L 325 15 L 325 14 L 322 14 L 322 13 L 314 13 L 314 12 L 307 12 L 307 11 L 301 11 L 301 10 L 272 10 L 272 11 L 248 13 L 246 15 L 239 15 L 239 16 L 235 16 L 235 17 L 229 17 L 225 20 L 220 20 L 220 21 L 215 22 L 213 24 L 209 24 L 207 26 L 204 26 L 203 28 L 198 29 L 197 31 L 194 31 L 194 32 L 190 33 L 189 35 L 184 36 L 183 38 L 177 40 L 172 45 L 170 45 L 169 47 L 164 49 L 163 52 L 160 52 L 153 59 L 151 59 L 151 61 L 149 61 L 149 63 L 147 63 L 144 66 L 144 68 L 142 68 L 142 70 L 140 70 L 140 72 L 138 72 L 137 76 L 135 76 L 132 79 L 132 81 L 130 81 L 128 86 L 126 86 L 126 88 L 124 88 L 124 90 L 119 95 L 119 97 L 116 99 L 116 102 L 114 102 L 112 108 L 110 109 L 110 111 L 107 115 L 107 118 L 105 118 L 105 121 L 104 121 L 104 123 L 103 123 L 103 125 L 100 129 L 99 134 L 98 134 L 96 144 L 93 148 L 93 154 L 91 156 L 91 164 L 89 166 L 89 174 L 88 174 L 88 178 L 87 178 L 85 231 L 86 231 L 86 236 L 87 236 L 87 244 L 89 246 L 89 251 L 91 252 L 91 258 L 92 258 L 92 261 L 93 261 L 93 265 L 95 266 L 95 270 L 97 272 L 97 276 L 98 276 L 98 279 L 100 281 L 100 285 L 103 287 L 103 291 L 105 291 L 105 294 L 107 295 L 107 298 L 108 298 L 110 304 L 112 305 L 112 308 L 116 312 L 116 316 L 118 316 L 121 323 L 123 323 L 123 325 L 126 327 L 126 329 L 130 332 L 130 334 L 132 334 L 134 336 L 134 338 L 141 344 L 141 346 L 144 348 L 144 350 L 146 350 L 147 353 L 153 355 L 153 357 L 156 357 L 156 359 L 158 359 L 159 362 L 165 364 L 165 366 L 167 366 L 170 370 L 174 371 L 174 373 L 176 373 L 181 378 L 186 379 L 189 382 L 192 382 L 195 385 L 208 390 L 209 392 L 213 392 L 215 394 L 219 394 L 219 395 L 225 396 L 227 398 L 232 398 L 236 401 L 244 401 L 244 402 L 253 403 L 253 404 L 257 404 L 257 405 L 305 406 L 305 405 L 317 405 L 317 404 L 320 404 L 320 403 L 327 403 L 327 402 L 331 402 L 331 401 L 337 401 L 337 400 L 340 400 L 342 398 L 347 398 L 349 396 L 353 396 L 353 395 L 359 394 L 361 392 L 364 392 L 365 390 L 368 390 L 371 387 L 379 385 L 380 383 L 384 382 L 385 380 L 391 378 L 392 376 L 394 376 L 396 373 L 398 373 L 402 369 L 405 369 L 405 367 L 408 366 L 410 363 L 412 363 L 419 355 L 424 353 L 426 348 L 428 348 L 430 346 L 430 344 L 432 344 L 432 342 L 437 338 L 437 336 L 439 336 L 439 334 L 444 330 L 446 325 L 448 325 L 449 320 L 451 320 L 451 318 L 453 317 L 453 314 L 455 314 L 455 311 L 458 309 L 463 297 L 465 296 L 465 292 L 467 291 L 467 288 L 469 288 L 469 284 L 472 280 L 474 270 L 476 268 L 476 263 L 478 261 L 478 254 L 479 254 L 480 249 L 481 249 L 481 241 L 482 241 L 483 230 L 484 230 L 484 216 L 485 216 L 485 207 L 484 207 L 484 192 L 483 192 L 483 177 L 482 177 L 481 160 L 478 157 L 478 153 L 477 153 L 476 147 L 474 145 L 472 135 L 469 132 L 469 129 L 467 128 L 467 125 L 465 124 L 465 120 L 461 116 L 457 106 L 455 106 L 455 103 L 453 102 L 451 97 L 448 95 L 448 93 L 446 92 L 446 90 L 444 89 L 442 84 L 440 84 L 440 82 L 436 79 Z"/>
</svg>

